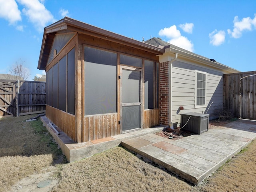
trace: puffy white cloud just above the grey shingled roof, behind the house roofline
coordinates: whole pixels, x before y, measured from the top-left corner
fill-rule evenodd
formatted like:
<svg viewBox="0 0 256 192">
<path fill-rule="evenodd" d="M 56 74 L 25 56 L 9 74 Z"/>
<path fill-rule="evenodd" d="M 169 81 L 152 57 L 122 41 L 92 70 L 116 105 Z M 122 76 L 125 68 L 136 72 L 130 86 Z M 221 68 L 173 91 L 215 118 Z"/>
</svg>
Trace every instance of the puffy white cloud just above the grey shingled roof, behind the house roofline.
<svg viewBox="0 0 256 192">
<path fill-rule="evenodd" d="M 166 36 L 169 38 L 167 42 L 170 44 L 176 45 L 191 52 L 194 51 L 194 44 L 188 40 L 188 38 L 180 34 L 180 31 L 176 28 L 176 25 L 161 29 L 158 34 L 160 36 Z"/>
</svg>

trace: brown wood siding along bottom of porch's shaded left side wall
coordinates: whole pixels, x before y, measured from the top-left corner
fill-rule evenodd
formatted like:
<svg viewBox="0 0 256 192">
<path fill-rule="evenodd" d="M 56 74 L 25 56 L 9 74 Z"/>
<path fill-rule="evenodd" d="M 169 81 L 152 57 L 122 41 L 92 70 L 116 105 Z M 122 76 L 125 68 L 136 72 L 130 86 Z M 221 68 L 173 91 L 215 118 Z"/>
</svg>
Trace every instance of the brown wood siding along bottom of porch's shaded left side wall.
<svg viewBox="0 0 256 192">
<path fill-rule="evenodd" d="M 46 105 L 46 117 L 72 140 L 76 141 L 75 116 Z"/>
</svg>

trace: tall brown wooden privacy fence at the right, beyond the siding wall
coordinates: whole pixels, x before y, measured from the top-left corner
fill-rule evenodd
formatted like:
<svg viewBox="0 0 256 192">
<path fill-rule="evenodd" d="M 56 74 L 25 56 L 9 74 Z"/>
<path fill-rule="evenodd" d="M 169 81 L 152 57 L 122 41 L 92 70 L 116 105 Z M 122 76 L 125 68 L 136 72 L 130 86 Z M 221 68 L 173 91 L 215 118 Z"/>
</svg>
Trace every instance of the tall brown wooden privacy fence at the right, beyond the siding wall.
<svg viewBox="0 0 256 192">
<path fill-rule="evenodd" d="M 224 74 L 223 100 L 235 117 L 256 120 L 256 71 Z"/>
</svg>

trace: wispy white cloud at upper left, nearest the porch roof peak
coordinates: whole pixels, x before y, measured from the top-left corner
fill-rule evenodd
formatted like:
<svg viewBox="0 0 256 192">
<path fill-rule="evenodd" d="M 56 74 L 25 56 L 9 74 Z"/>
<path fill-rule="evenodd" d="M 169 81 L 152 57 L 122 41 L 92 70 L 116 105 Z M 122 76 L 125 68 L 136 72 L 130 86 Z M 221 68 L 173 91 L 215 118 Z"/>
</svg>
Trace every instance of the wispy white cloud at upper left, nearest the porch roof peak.
<svg viewBox="0 0 256 192">
<path fill-rule="evenodd" d="M 29 21 L 34 24 L 39 32 L 42 32 L 44 27 L 49 22 L 55 22 L 54 16 L 42 4 L 44 1 L 38 0 L 18 0 L 18 2 L 25 6 L 22 12 L 28 17 Z"/>
</svg>

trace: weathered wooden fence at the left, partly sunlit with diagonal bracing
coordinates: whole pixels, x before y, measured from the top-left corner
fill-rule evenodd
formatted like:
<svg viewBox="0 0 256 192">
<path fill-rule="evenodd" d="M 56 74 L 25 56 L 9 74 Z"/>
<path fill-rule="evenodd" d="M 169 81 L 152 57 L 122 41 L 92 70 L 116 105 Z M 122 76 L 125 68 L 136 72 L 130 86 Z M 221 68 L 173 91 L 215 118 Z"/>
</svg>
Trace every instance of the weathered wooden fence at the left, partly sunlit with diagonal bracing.
<svg viewBox="0 0 256 192">
<path fill-rule="evenodd" d="M 0 80 L 0 118 L 45 112 L 45 82 Z"/>
</svg>

